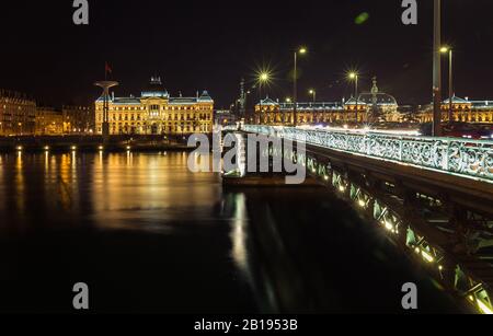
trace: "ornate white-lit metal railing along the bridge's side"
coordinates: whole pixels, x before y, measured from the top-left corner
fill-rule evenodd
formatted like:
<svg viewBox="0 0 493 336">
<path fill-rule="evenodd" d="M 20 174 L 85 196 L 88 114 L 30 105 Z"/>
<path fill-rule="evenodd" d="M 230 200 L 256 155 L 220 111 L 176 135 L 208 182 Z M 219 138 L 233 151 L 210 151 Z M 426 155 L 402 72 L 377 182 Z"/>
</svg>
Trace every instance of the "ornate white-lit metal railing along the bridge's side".
<svg viewBox="0 0 493 336">
<path fill-rule="evenodd" d="M 242 130 L 493 183 L 493 141 L 244 125 Z"/>
</svg>

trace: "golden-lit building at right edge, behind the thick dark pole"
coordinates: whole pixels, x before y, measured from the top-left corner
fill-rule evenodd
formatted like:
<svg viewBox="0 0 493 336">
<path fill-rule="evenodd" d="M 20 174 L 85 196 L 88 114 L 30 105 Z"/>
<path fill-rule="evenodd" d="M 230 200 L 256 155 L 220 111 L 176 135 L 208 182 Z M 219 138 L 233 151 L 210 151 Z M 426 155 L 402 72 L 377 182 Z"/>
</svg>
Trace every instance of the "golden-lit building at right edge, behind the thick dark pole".
<svg viewBox="0 0 493 336">
<path fill-rule="evenodd" d="M 442 102 L 442 120 L 448 121 L 450 101 Z M 417 115 L 420 123 L 433 121 L 433 108 L 427 105 Z M 493 100 L 470 101 L 452 96 L 452 121 L 493 124 Z"/>
</svg>

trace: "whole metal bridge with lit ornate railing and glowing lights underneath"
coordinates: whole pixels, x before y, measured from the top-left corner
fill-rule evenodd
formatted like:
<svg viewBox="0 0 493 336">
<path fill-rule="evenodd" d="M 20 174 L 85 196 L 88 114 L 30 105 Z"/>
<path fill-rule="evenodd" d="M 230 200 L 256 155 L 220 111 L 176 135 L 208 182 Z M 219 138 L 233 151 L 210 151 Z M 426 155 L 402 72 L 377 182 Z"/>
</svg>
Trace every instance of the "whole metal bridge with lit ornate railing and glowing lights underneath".
<svg viewBox="0 0 493 336">
<path fill-rule="evenodd" d="M 293 141 L 260 154 L 305 166 L 446 291 L 493 313 L 493 141 L 263 125 L 223 130 Z"/>
</svg>

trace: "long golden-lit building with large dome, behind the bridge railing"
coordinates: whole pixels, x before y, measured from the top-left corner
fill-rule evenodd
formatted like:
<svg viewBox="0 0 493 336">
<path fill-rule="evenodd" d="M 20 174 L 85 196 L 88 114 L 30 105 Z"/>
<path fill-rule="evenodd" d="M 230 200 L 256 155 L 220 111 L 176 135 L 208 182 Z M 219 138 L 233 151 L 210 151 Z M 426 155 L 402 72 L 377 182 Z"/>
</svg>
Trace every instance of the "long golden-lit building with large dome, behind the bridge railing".
<svg viewBox="0 0 493 336">
<path fill-rule="evenodd" d="M 377 80 L 374 79 L 371 92 L 362 93 L 358 102 L 352 97 L 347 102 L 317 102 L 298 103 L 298 125 L 307 124 L 344 124 L 354 123 L 401 121 L 395 99 L 387 93 L 379 92 Z M 255 106 L 255 123 L 263 125 L 294 125 L 294 104 L 279 103 L 270 97 L 262 100 Z"/>
</svg>

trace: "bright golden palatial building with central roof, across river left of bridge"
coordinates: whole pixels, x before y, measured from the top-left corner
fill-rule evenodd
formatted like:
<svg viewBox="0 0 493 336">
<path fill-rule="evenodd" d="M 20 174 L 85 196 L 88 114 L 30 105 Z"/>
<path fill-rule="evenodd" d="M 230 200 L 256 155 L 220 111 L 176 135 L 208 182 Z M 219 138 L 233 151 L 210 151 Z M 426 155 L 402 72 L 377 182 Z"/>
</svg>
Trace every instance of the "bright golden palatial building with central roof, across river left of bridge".
<svg viewBox="0 0 493 336">
<path fill-rule="evenodd" d="M 111 135 L 184 135 L 213 131 L 214 100 L 204 91 L 195 97 L 171 97 L 160 78 L 152 78 L 140 97 L 110 100 Z M 103 99 L 95 102 L 95 130 L 102 134 Z"/>
</svg>

